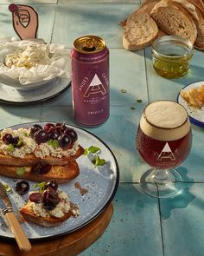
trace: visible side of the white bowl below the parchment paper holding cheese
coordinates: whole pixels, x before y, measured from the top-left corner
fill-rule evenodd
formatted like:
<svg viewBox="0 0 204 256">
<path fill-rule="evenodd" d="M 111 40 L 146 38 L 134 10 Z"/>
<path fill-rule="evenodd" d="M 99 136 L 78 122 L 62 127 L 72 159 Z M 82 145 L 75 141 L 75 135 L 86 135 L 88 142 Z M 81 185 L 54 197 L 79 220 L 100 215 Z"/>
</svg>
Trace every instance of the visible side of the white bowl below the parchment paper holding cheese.
<svg viewBox="0 0 204 256">
<path fill-rule="evenodd" d="M 57 79 L 57 78 L 54 77 L 50 80 L 42 80 L 40 82 L 21 84 L 18 79 L 13 79 L 6 75 L 0 75 L 0 83 L 3 83 L 4 85 L 7 85 L 10 87 L 13 87 L 14 89 L 22 90 L 22 91 L 40 89 L 42 86 L 44 86 L 48 82 L 53 82 L 55 79 Z"/>
</svg>

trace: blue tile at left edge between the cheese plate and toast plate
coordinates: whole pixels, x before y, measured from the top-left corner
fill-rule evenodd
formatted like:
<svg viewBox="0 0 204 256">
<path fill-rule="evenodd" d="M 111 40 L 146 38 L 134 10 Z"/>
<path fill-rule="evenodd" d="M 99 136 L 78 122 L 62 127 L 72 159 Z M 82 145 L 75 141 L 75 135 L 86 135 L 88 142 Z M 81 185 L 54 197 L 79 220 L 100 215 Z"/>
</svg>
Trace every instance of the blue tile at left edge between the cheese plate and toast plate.
<svg viewBox="0 0 204 256">
<path fill-rule="evenodd" d="M 9 127 L 18 123 L 39 121 L 41 118 L 41 104 L 35 106 L 10 106 L 1 104 L 0 106 L 0 128 Z"/>
</svg>

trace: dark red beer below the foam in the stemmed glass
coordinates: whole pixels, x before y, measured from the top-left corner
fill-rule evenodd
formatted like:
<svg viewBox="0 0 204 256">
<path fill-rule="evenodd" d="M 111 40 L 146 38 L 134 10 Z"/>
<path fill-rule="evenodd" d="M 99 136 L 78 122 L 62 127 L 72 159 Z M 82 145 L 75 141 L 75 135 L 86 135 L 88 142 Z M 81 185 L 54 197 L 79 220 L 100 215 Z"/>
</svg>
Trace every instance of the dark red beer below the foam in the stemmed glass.
<svg viewBox="0 0 204 256">
<path fill-rule="evenodd" d="M 191 148 L 191 132 L 175 141 L 158 141 L 145 135 L 142 129 L 137 131 L 137 150 L 150 167 L 168 169 L 179 166 Z"/>
</svg>

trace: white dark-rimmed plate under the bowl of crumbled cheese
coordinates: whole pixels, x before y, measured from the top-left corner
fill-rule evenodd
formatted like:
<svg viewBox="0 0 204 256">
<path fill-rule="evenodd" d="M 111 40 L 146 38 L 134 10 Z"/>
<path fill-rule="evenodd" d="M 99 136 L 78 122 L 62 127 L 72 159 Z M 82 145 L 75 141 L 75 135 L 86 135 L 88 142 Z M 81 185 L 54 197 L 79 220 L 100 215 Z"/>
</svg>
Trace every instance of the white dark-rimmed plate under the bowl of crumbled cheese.
<svg viewBox="0 0 204 256">
<path fill-rule="evenodd" d="M 0 83 L 0 102 L 10 104 L 43 102 L 60 95 L 70 85 L 70 79 L 54 78 L 41 89 L 21 91 Z"/>
</svg>

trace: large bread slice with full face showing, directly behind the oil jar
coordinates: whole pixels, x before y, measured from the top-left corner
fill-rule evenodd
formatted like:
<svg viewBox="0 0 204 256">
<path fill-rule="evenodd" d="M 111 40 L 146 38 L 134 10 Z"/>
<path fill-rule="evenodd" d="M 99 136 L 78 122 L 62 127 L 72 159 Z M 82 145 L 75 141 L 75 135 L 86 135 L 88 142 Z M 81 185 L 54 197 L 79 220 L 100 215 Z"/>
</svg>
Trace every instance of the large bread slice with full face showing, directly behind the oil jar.
<svg viewBox="0 0 204 256">
<path fill-rule="evenodd" d="M 151 10 L 150 16 L 154 18 L 158 27 L 165 33 L 182 36 L 194 44 L 197 37 L 194 20 L 180 3 L 161 0 Z"/>
</svg>

